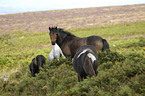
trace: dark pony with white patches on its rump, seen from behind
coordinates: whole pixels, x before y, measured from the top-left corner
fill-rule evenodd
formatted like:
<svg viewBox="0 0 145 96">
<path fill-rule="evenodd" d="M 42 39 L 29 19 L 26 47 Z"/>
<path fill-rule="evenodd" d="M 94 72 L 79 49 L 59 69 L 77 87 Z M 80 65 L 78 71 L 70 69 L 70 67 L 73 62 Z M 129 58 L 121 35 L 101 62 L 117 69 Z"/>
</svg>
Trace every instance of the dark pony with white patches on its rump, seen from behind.
<svg viewBox="0 0 145 96">
<path fill-rule="evenodd" d="M 81 46 L 73 59 L 73 67 L 78 73 L 78 81 L 83 81 L 87 76 L 96 76 L 98 71 L 98 54 L 95 47 L 91 45 Z"/>
</svg>

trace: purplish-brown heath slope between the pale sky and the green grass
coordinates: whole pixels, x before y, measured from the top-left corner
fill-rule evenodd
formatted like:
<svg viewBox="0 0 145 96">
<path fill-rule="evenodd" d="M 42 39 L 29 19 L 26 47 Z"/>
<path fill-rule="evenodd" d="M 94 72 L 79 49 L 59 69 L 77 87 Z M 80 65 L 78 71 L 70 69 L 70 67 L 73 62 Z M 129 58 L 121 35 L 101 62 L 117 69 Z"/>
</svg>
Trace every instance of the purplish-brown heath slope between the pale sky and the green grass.
<svg viewBox="0 0 145 96">
<path fill-rule="evenodd" d="M 0 33 L 42 32 L 49 26 L 65 29 L 145 21 L 145 5 L 97 7 L 0 15 Z"/>
</svg>

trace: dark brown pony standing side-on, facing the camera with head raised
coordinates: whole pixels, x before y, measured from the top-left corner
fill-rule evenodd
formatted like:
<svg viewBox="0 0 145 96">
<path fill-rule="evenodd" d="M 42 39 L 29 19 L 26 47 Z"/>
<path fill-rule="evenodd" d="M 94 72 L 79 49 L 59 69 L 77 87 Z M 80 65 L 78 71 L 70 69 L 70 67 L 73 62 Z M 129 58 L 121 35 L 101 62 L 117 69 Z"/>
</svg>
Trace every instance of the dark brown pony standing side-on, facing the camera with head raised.
<svg viewBox="0 0 145 96">
<path fill-rule="evenodd" d="M 57 43 L 63 54 L 69 60 L 72 60 L 76 50 L 82 45 L 92 45 L 98 51 L 109 49 L 108 42 L 99 36 L 80 38 L 57 27 L 49 27 L 49 31 L 52 45 Z"/>
</svg>

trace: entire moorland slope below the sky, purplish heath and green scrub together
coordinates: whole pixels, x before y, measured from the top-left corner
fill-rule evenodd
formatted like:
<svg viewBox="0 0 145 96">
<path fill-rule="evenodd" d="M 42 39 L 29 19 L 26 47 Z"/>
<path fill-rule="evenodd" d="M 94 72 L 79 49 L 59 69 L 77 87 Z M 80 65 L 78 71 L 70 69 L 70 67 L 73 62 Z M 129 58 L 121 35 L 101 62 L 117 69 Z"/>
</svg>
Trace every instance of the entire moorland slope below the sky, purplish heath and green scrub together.
<svg viewBox="0 0 145 96">
<path fill-rule="evenodd" d="M 0 96 L 145 96 L 145 5 L 1 15 L 0 23 Z M 107 39 L 96 77 L 78 82 L 68 59 L 48 61 L 52 25 Z M 32 77 L 40 54 L 46 65 Z"/>
</svg>

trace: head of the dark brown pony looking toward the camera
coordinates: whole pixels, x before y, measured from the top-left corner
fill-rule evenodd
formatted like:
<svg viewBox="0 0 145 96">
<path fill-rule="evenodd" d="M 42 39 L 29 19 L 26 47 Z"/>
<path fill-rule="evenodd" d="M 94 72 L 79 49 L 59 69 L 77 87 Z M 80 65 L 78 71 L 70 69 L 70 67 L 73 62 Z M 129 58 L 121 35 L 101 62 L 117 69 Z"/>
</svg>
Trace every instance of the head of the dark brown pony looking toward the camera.
<svg viewBox="0 0 145 96">
<path fill-rule="evenodd" d="M 51 39 L 51 43 L 52 45 L 55 45 L 55 42 L 58 38 L 58 30 L 57 27 L 49 27 L 49 35 L 50 35 L 50 39 Z"/>
</svg>

